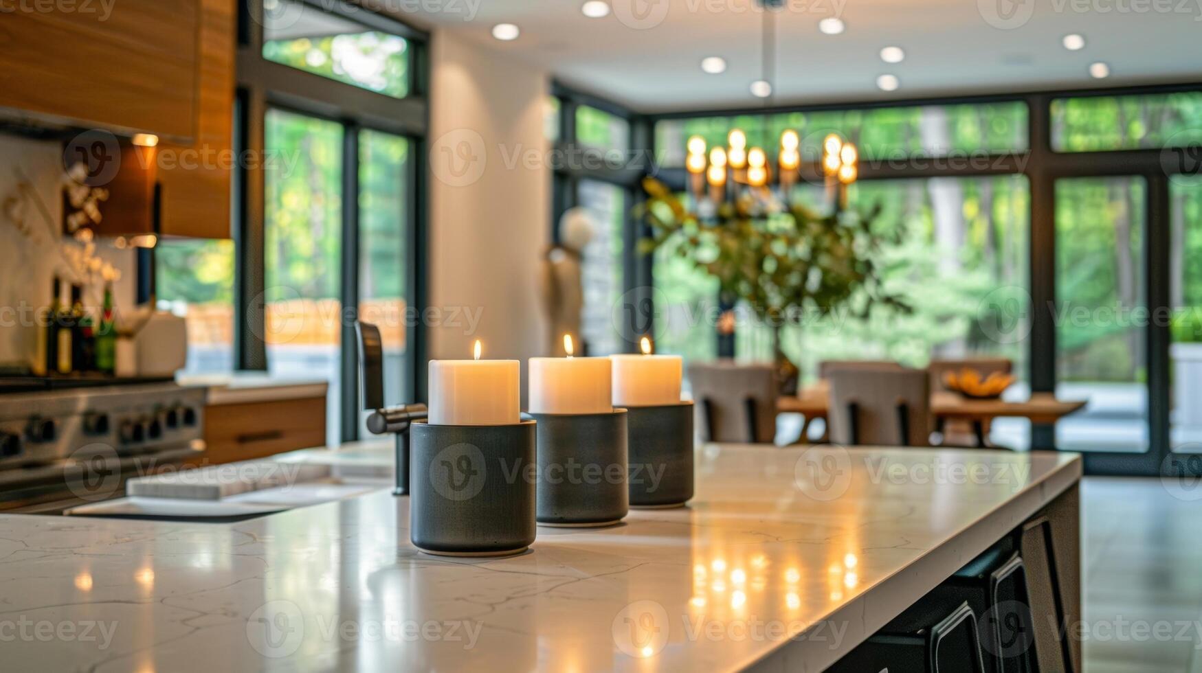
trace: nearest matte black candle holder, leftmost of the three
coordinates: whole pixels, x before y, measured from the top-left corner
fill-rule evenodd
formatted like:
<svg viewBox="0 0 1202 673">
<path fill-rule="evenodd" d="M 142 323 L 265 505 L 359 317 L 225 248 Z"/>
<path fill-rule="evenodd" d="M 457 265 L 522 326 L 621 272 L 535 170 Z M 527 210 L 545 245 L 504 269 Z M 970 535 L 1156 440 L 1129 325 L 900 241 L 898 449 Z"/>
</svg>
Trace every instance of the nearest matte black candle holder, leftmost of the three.
<svg viewBox="0 0 1202 673">
<path fill-rule="evenodd" d="M 412 424 L 409 537 L 428 554 L 508 556 L 535 537 L 534 421 Z"/>
</svg>

